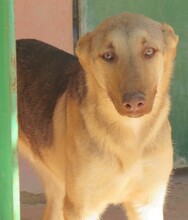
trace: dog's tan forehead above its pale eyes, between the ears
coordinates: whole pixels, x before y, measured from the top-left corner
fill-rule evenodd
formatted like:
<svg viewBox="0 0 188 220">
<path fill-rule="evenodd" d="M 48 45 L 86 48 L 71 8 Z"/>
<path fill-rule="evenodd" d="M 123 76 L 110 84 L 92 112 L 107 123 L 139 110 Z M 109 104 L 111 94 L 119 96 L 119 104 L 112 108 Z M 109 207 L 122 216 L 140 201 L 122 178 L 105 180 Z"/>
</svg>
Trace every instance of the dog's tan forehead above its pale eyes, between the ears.
<svg viewBox="0 0 188 220">
<path fill-rule="evenodd" d="M 161 24 L 139 14 L 123 13 L 110 17 L 99 25 L 93 36 L 101 44 L 105 41 L 118 42 L 135 38 L 162 41 Z"/>
</svg>

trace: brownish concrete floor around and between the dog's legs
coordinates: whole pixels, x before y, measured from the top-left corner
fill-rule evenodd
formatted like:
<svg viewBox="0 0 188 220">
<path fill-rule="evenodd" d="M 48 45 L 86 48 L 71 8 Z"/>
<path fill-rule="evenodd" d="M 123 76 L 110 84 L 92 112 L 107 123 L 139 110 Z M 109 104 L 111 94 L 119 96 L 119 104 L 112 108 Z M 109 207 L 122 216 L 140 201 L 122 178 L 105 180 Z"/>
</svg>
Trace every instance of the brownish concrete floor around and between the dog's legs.
<svg viewBox="0 0 188 220">
<path fill-rule="evenodd" d="M 33 199 L 34 198 L 34 199 Z M 40 204 L 35 204 L 38 201 Z M 21 194 L 21 220 L 40 220 L 45 206 L 43 195 Z M 188 169 L 174 173 L 169 185 L 165 206 L 165 220 L 188 220 Z M 110 206 L 103 220 L 127 220 L 121 207 Z"/>
</svg>

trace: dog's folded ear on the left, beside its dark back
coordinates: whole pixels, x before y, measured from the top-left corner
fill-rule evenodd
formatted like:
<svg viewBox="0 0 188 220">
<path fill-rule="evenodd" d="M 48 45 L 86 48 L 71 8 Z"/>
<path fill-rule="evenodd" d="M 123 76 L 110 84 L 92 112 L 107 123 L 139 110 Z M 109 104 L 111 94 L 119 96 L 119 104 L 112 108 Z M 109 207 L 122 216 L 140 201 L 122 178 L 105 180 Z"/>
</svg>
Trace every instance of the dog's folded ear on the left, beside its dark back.
<svg viewBox="0 0 188 220">
<path fill-rule="evenodd" d="M 78 40 L 75 52 L 81 64 L 88 63 L 89 54 L 91 52 L 91 33 L 85 34 Z"/>
</svg>

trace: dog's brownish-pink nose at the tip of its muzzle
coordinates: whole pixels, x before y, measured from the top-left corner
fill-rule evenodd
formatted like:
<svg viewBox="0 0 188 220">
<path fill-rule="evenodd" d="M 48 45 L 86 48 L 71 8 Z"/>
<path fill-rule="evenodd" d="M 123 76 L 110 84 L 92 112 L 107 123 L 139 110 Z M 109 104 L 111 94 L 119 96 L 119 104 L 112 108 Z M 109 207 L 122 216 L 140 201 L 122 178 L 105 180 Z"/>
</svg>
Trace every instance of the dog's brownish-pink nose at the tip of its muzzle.
<svg viewBox="0 0 188 220">
<path fill-rule="evenodd" d="M 145 106 L 145 95 L 143 93 L 126 93 L 123 96 L 123 105 L 129 112 L 141 111 Z"/>
</svg>

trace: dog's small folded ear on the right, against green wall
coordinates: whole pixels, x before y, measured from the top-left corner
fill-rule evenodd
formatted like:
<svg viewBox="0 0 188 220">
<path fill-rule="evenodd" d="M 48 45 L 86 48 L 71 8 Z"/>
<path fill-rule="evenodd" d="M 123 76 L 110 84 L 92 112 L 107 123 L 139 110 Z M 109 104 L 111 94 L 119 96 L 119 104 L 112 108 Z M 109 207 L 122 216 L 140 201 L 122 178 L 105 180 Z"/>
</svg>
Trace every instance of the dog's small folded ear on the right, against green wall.
<svg viewBox="0 0 188 220">
<path fill-rule="evenodd" d="M 167 49 L 175 49 L 179 38 L 175 34 L 173 28 L 170 25 L 164 23 L 161 25 L 161 29 L 164 35 L 164 41 Z"/>
</svg>

